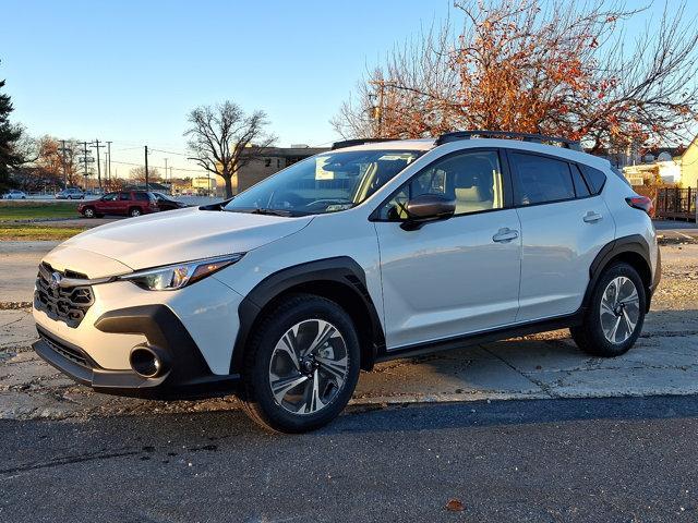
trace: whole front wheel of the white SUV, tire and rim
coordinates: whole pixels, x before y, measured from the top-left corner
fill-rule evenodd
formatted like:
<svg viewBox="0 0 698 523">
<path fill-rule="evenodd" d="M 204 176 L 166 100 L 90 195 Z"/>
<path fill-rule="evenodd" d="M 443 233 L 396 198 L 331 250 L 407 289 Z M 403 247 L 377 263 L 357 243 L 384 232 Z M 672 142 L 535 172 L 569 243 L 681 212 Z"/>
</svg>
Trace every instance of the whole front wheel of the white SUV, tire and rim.
<svg viewBox="0 0 698 523">
<path fill-rule="evenodd" d="M 351 399 L 359 360 L 349 315 L 324 297 L 297 294 L 255 326 L 241 399 L 250 417 L 267 429 L 313 430 L 333 421 Z"/>
</svg>

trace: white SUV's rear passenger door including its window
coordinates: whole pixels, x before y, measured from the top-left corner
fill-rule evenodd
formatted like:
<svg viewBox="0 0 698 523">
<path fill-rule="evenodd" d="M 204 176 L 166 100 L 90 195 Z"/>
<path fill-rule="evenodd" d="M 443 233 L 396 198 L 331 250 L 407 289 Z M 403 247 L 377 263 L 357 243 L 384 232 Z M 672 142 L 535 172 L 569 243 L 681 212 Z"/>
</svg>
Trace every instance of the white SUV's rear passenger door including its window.
<svg viewBox="0 0 698 523">
<path fill-rule="evenodd" d="M 615 223 L 575 162 L 507 153 L 521 222 L 521 287 L 517 321 L 574 313 L 589 283 L 589 267 L 615 236 Z"/>
</svg>

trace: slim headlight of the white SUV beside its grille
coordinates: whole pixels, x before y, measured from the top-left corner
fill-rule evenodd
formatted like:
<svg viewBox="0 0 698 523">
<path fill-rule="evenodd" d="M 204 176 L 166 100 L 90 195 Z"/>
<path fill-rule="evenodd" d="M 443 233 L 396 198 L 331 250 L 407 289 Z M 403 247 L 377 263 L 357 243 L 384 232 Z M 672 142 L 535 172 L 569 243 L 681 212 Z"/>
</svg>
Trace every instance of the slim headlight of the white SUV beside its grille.
<svg viewBox="0 0 698 523">
<path fill-rule="evenodd" d="M 137 270 L 120 276 L 119 280 L 131 281 L 148 291 L 174 291 L 203 280 L 207 276 L 238 262 L 244 253 L 217 256 L 215 258 L 196 259 L 182 264 Z"/>
</svg>

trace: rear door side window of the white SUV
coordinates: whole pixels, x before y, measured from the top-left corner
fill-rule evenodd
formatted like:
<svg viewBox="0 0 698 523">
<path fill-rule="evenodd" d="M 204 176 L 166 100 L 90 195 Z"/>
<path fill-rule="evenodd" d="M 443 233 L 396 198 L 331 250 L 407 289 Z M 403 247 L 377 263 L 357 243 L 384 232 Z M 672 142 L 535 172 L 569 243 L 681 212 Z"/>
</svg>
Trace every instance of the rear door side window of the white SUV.
<svg viewBox="0 0 698 523">
<path fill-rule="evenodd" d="M 521 153 L 509 156 L 518 177 L 518 205 L 544 204 L 575 197 L 569 165 L 566 161 Z"/>
</svg>

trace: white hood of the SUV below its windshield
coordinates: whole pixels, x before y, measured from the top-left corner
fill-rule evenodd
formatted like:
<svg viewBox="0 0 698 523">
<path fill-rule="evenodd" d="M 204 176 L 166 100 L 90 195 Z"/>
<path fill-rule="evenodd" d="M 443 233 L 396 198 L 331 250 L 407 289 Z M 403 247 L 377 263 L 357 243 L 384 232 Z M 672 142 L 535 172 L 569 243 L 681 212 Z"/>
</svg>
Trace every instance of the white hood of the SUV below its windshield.
<svg viewBox="0 0 698 523">
<path fill-rule="evenodd" d="M 311 221 L 312 217 L 286 218 L 190 207 L 91 229 L 62 243 L 51 254 L 63 250 L 89 251 L 137 270 L 248 252 L 293 234 Z M 46 258 L 48 263 L 51 254 Z M 83 272 L 94 273 L 94 270 Z"/>
</svg>

